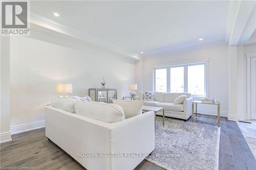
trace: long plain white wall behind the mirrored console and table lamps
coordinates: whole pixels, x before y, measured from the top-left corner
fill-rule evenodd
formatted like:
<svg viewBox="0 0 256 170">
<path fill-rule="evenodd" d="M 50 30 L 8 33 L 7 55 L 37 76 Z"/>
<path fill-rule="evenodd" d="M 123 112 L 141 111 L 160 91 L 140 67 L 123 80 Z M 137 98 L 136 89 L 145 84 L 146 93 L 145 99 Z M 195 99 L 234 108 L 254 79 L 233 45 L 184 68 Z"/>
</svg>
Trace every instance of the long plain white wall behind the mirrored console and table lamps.
<svg viewBox="0 0 256 170">
<path fill-rule="evenodd" d="M 106 88 L 117 88 L 119 99 L 135 83 L 135 61 L 75 39 L 32 30 L 30 37 L 11 37 L 10 47 L 12 133 L 44 126 L 45 106 L 59 95 L 55 83 L 73 83 L 72 95 L 85 96 L 88 88 L 101 88 L 105 75 Z"/>
</svg>

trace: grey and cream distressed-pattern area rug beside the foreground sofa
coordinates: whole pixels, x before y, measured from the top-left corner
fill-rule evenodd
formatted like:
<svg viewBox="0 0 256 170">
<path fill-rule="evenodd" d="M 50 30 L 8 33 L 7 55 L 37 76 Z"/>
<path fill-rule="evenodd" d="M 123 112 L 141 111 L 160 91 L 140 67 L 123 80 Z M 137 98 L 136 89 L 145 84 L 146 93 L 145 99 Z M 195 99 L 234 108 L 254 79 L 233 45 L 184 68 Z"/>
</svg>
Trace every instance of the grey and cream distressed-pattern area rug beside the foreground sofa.
<svg viewBox="0 0 256 170">
<path fill-rule="evenodd" d="M 156 147 L 146 160 L 166 169 L 218 169 L 220 128 L 162 117 L 156 120 Z"/>
</svg>

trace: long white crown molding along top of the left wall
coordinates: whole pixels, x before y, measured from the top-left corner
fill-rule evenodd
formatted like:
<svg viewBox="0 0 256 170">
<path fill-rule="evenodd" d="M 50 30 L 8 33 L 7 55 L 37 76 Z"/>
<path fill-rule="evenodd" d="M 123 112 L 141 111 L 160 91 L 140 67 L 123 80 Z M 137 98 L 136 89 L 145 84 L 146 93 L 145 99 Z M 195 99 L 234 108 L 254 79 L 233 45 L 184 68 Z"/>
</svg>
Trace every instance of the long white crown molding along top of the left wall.
<svg viewBox="0 0 256 170">
<path fill-rule="evenodd" d="M 127 51 L 126 49 L 124 49 L 122 47 L 119 47 L 119 46 L 116 46 L 109 42 L 103 41 L 103 40 L 101 40 L 97 37 L 94 37 L 92 35 L 89 35 L 87 33 L 82 33 L 78 30 L 75 30 L 71 27 L 65 26 L 57 21 L 53 21 L 53 20 L 51 20 L 47 17 L 44 17 L 42 15 L 31 13 L 29 18 L 30 18 L 31 23 L 38 25 L 40 27 L 44 27 L 44 28 L 47 28 L 49 30 L 52 30 L 52 31 L 55 31 L 55 32 L 58 32 L 61 34 L 65 34 L 65 35 L 77 38 L 79 40 L 93 44 L 96 47 L 101 47 L 101 48 L 103 48 L 107 51 L 110 51 L 112 53 L 119 54 L 121 56 L 125 56 L 126 58 L 130 58 L 130 59 L 133 59 L 136 61 L 141 60 L 141 56 L 136 53 Z"/>
</svg>

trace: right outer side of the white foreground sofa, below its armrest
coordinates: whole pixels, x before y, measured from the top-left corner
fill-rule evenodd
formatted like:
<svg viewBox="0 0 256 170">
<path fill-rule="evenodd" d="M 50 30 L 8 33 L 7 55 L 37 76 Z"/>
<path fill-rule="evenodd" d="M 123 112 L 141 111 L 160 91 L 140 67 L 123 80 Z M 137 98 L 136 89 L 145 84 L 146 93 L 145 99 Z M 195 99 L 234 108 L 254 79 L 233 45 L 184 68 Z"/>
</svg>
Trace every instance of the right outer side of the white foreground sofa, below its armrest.
<svg viewBox="0 0 256 170">
<path fill-rule="evenodd" d="M 139 157 L 113 157 L 113 169 L 134 169 L 155 149 L 155 113 L 145 112 L 110 124 L 111 153 L 139 153 Z M 125 161 L 124 161 L 125 160 Z"/>
</svg>

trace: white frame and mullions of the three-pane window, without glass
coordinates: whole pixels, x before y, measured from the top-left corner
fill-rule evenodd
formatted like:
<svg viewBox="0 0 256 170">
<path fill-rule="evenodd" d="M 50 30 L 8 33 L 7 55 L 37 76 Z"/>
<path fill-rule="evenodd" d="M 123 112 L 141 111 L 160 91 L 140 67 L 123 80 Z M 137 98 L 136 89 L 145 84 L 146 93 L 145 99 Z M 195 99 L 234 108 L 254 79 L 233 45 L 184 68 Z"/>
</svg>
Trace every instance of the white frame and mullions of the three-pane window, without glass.
<svg viewBox="0 0 256 170">
<path fill-rule="evenodd" d="M 191 97 L 195 99 L 202 99 L 202 98 L 208 98 L 208 62 L 194 62 L 194 63 L 186 63 L 186 64 L 176 64 L 176 65 L 169 65 L 169 66 L 163 66 L 163 67 L 154 67 L 153 71 L 153 91 L 155 91 L 156 87 L 156 69 L 163 69 L 166 68 L 166 80 L 167 80 L 167 88 L 166 92 L 170 92 L 170 68 L 174 67 L 184 67 L 184 92 L 188 92 L 188 70 L 187 67 L 191 65 L 204 65 L 204 95 L 196 95 L 191 94 Z"/>
</svg>

